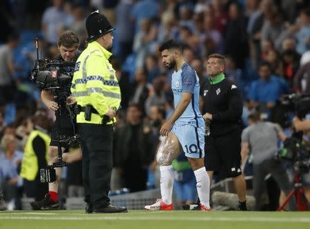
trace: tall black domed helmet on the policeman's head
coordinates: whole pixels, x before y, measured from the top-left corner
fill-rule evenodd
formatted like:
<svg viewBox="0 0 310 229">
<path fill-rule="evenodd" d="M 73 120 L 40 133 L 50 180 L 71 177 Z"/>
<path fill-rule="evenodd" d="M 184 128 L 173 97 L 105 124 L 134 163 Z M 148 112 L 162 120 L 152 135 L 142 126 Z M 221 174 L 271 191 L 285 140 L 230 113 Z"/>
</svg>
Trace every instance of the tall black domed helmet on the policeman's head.
<svg viewBox="0 0 310 229">
<path fill-rule="evenodd" d="M 86 19 L 86 30 L 88 37 L 87 42 L 96 41 L 99 37 L 115 30 L 110 21 L 103 14 L 99 14 L 98 10 L 92 12 Z"/>
</svg>

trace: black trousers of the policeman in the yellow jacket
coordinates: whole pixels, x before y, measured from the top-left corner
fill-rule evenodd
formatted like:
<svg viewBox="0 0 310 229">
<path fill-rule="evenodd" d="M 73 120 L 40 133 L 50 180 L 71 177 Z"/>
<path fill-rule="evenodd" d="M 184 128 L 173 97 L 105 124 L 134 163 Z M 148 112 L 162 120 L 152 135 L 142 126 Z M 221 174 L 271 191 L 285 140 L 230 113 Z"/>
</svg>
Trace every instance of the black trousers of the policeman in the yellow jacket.
<svg viewBox="0 0 310 229">
<path fill-rule="evenodd" d="M 110 204 L 113 126 L 79 123 L 85 201 L 94 210 Z"/>
</svg>

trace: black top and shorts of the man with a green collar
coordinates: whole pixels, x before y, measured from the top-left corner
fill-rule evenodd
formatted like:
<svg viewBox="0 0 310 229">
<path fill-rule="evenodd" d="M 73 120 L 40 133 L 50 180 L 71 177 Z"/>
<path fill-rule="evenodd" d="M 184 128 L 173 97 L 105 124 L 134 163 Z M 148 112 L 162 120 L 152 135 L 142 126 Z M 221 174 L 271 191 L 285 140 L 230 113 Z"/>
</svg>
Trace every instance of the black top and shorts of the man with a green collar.
<svg viewBox="0 0 310 229">
<path fill-rule="evenodd" d="M 241 174 L 241 115 L 242 99 L 236 85 L 223 77 L 221 81 L 211 78 L 203 90 L 203 114 L 212 115 L 205 137 L 205 167 L 220 172 L 224 177 Z"/>
</svg>

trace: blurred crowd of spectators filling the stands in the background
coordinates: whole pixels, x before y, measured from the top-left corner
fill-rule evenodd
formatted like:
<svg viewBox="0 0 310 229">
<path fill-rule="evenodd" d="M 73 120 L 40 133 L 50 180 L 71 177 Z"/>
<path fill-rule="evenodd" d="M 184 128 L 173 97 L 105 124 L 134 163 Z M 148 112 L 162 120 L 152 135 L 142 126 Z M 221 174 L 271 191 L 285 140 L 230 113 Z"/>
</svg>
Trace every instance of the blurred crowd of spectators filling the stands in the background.
<svg viewBox="0 0 310 229">
<path fill-rule="evenodd" d="M 39 38 L 39 57 L 53 59 L 59 34 L 73 30 L 83 50 L 85 18 L 97 9 L 116 28 L 111 63 L 122 93 L 112 191 L 156 187 L 152 175 L 159 129 L 173 110 L 172 72 L 161 63 L 158 46 L 169 38 L 183 43 L 185 61 L 196 70 L 202 88 L 208 78 L 207 56 L 225 54 L 225 75 L 236 83 L 244 101 L 245 128 L 254 110 L 263 119 L 289 128 L 278 100 L 282 94 L 310 93 L 307 0 L 1 1 L 0 181 L 12 208 L 20 208 L 12 199 L 25 193 L 19 171 L 32 117 L 43 110 L 47 120 L 54 119 L 29 81 L 37 58 L 34 40 Z M 82 186 L 81 179 L 74 185 Z"/>
</svg>

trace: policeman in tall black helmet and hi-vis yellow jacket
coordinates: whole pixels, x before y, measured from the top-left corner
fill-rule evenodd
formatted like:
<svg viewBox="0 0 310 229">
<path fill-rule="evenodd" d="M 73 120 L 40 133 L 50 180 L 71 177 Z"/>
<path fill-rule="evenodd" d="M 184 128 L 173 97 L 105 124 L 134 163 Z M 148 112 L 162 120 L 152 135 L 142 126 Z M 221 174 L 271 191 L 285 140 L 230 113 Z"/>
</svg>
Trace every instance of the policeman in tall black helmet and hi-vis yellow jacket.
<svg viewBox="0 0 310 229">
<path fill-rule="evenodd" d="M 112 172 L 113 123 L 121 103 L 112 55 L 114 28 L 107 18 L 92 12 L 86 19 L 87 48 L 76 61 L 71 92 L 80 107 L 76 121 L 83 151 L 86 213 L 127 212 L 112 206 L 107 194 Z"/>
</svg>

